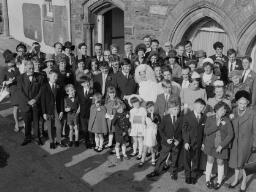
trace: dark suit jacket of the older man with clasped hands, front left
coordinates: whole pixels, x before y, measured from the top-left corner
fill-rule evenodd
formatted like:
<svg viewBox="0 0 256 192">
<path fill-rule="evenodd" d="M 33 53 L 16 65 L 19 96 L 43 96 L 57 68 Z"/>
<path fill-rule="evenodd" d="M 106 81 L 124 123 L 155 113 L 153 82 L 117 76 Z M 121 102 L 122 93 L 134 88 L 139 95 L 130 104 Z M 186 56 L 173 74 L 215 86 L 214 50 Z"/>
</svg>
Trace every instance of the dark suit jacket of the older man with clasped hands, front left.
<svg viewBox="0 0 256 192">
<path fill-rule="evenodd" d="M 19 107 L 22 112 L 28 112 L 32 108 L 28 104 L 28 101 L 30 101 L 31 99 L 35 99 L 37 105 L 40 103 L 43 83 L 44 78 L 38 73 L 33 74 L 32 82 L 30 82 L 29 77 L 26 73 L 19 76 Z"/>
</svg>

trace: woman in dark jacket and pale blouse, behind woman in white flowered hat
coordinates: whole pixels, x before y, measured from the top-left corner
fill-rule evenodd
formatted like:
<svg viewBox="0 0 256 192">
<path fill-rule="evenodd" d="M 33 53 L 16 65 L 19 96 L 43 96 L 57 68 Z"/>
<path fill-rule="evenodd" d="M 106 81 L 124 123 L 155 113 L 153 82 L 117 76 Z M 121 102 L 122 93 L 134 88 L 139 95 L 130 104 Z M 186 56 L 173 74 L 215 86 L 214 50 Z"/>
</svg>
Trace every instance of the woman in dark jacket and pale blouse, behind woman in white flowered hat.
<svg viewBox="0 0 256 192">
<path fill-rule="evenodd" d="M 219 78 L 213 73 L 214 66 L 210 62 L 204 63 L 204 73 L 202 74 L 202 85 L 206 90 L 207 98 L 214 97 L 213 83 Z"/>
</svg>

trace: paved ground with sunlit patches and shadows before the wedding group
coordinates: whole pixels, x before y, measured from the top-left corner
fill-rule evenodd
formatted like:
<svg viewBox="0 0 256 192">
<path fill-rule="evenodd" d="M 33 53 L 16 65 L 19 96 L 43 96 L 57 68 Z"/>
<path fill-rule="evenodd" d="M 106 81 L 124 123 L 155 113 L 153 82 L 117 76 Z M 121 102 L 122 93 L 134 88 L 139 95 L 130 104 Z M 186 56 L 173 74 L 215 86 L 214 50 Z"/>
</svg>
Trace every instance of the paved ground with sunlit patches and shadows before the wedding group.
<svg viewBox="0 0 256 192">
<path fill-rule="evenodd" d="M 14 42 L 8 44 L 11 49 Z M 0 46 L 1 43 L 0 38 Z M 0 48 L 1 51 L 1 48 Z M 0 54 L 0 63 L 3 63 Z M 49 150 L 49 145 L 21 147 L 22 133 L 13 132 L 10 103 L 0 103 L 0 155 L 8 154 L 7 165 L 0 161 L 0 192 L 204 192 L 204 177 L 196 185 L 184 183 L 184 173 L 177 182 L 169 173 L 148 181 L 153 170 L 150 163 L 138 168 L 136 160 L 117 162 L 107 151 L 96 153 L 79 148 Z M 0 158 L 1 159 L 1 158 Z M 255 177 L 249 179 L 247 191 L 256 191 Z M 231 191 L 222 187 L 220 192 Z M 238 191 L 238 188 L 233 190 Z"/>
</svg>

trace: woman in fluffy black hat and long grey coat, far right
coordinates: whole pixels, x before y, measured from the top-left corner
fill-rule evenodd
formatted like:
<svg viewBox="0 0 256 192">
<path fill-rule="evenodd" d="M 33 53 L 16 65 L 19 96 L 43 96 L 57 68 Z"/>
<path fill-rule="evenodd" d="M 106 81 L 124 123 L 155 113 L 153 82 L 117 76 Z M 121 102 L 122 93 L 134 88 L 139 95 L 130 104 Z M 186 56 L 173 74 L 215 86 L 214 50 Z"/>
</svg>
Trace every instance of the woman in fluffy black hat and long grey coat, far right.
<svg viewBox="0 0 256 192">
<path fill-rule="evenodd" d="M 235 95 L 237 108 L 232 114 L 235 137 L 230 151 L 229 166 L 235 169 L 235 177 L 229 188 L 234 188 L 239 182 L 239 172 L 242 171 L 243 179 L 240 191 L 246 190 L 247 176 L 244 165 L 252 152 L 256 149 L 256 114 L 250 109 L 250 93 L 244 90 Z"/>
</svg>

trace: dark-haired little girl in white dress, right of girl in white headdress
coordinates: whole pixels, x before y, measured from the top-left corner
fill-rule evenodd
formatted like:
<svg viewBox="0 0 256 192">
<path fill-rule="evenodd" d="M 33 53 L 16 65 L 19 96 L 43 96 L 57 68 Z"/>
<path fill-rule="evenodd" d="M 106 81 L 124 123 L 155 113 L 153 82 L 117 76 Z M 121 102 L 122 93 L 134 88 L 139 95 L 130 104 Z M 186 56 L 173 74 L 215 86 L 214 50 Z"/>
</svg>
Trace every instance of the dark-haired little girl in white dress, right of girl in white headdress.
<svg viewBox="0 0 256 192">
<path fill-rule="evenodd" d="M 154 147 L 157 145 L 156 141 L 156 135 L 157 135 L 157 124 L 159 123 L 159 115 L 154 114 L 154 103 L 152 101 L 149 101 L 146 103 L 146 109 L 147 109 L 147 118 L 146 118 L 146 128 L 144 131 L 144 140 L 143 140 L 143 153 L 141 162 L 139 164 L 139 167 L 143 166 L 145 162 L 145 158 L 147 155 L 147 152 L 150 152 L 152 157 L 152 165 L 156 165 L 156 158 L 155 158 L 155 149 Z"/>
</svg>

